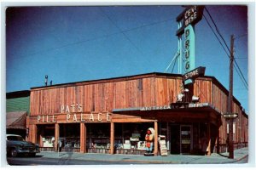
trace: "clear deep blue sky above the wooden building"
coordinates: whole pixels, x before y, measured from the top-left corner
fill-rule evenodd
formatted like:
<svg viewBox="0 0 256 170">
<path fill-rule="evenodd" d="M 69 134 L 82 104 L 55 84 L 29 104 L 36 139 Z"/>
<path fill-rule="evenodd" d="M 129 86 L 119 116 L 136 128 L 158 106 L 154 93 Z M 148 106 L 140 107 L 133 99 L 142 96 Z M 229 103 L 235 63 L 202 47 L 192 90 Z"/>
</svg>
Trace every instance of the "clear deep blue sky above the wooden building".
<svg viewBox="0 0 256 170">
<path fill-rule="evenodd" d="M 207 9 L 229 47 L 230 35 L 238 37 L 235 58 L 247 80 L 247 7 Z M 6 91 L 44 86 L 45 75 L 59 84 L 164 72 L 177 51 L 176 17 L 182 11 L 181 6 L 8 8 Z M 195 65 L 206 66 L 206 75 L 229 89 L 229 58 L 204 18 L 195 34 Z M 235 69 L 234 95 L 247 111 L 247 88 Z"/>
</svg>

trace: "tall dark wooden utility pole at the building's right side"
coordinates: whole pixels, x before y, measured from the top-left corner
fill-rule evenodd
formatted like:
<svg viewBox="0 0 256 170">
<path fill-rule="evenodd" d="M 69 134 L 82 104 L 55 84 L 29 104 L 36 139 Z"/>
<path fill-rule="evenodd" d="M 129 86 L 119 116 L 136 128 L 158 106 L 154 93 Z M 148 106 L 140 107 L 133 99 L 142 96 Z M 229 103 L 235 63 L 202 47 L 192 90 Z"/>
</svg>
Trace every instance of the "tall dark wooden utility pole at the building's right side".
<svg viewBox="0 0 256 170">
<path fill-rule="evenodd" d="M 234 35 L 230 39 L 230 93 L 228 103 L 228 113 L 233 115 L 233 66 L 234 66 Z M 233 144 L 233 118 L 229 119 L 229 158 L 234 159 L 234 144 Z"/>
</svg>

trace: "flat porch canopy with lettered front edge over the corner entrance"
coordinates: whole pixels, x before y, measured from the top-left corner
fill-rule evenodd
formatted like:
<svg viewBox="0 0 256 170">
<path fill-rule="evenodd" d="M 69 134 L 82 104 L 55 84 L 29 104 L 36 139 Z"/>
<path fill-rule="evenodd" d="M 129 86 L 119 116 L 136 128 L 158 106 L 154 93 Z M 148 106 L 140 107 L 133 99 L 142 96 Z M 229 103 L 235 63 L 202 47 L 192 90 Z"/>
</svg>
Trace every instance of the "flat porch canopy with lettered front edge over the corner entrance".
<svg viewBox="0 0 256 170">
<path fill-rule="evenodd" d="M 223 115 L 208 103 L 113 109 L 113 115 L 131 115 L 161 122 L 211 122 L 220 126 Z"/>
</svg>

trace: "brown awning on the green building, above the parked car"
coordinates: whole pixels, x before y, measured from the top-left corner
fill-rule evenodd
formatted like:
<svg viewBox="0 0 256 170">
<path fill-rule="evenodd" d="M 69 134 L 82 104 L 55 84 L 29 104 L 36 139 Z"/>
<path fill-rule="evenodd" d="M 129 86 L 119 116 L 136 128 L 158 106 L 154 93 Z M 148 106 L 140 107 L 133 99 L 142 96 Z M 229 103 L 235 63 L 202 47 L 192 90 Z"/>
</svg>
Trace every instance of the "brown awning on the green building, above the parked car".
<svg viewBox="0 0 256 170">
<path fill-rule="evenodd" d="M 6 128 L 26 129 L 26 111 L 6 113 Z"/>
</svg>

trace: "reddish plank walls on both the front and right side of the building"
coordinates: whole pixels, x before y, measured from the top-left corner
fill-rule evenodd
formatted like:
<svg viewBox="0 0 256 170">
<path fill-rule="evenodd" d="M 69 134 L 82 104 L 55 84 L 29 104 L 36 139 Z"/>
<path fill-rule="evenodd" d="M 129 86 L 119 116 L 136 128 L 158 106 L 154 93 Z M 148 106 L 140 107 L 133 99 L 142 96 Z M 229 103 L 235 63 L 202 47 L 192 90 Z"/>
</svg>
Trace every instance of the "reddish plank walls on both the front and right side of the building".
<svg viewBox="0 0 256 170">
<path fill-rule="evenodd" d="M 151 76 L 117 81 L 79 82 L 52 88 L 34 88 L 31 91 L 31 116 L 61 114 L 61 105 L 83 105 L 83 112 L 112 112 L 113 109 L 170 105 L 180 93 L 181 77 Z M 219 111 L 227 111 L 227 94 L 211 78 L 198 78 L 194 84 L 194 95 L 201 103 L 214 105 Z M 234 102 L 234 112 L 239 113 L 236 132 L 247 139 L 247 118 L 241 114 L 241 107 Z M 66 114 L 66 113 L 62 113 Z M 225 143 L 226 122 L 222 118 L 220 143 Z M 240 123 L 240 124 L 239 124 Z M 30 128 L 31 129 L 31 128 Z M 236 141 L 241 136 L 236 134 Z M 235 141 L 235 142 L 236 142 Z"/>
</svg>

